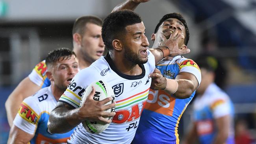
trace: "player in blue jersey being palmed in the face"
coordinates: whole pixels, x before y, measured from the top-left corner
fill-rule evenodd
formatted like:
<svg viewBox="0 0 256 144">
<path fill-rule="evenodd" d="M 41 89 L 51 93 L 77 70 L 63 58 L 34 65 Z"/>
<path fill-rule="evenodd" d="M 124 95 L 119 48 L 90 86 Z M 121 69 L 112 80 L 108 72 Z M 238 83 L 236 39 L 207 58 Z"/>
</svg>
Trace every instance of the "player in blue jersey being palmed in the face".
<svg viewBox="0 0 256 144">
<path fill-rule="evenodd" d="M 113 11 L 121 9 L 134 10 L 140 2 L 148 0 L 127 0 Z M 161 37 L 163 33 L 164 37 Z M 157 24 L 151 40 L 153 48 L 159 42 L 176 34 L 183 35 L 178 42 L 180 50 L 187 49 L 189 30 L 186 20 L 178 13 L 164 15 Z M 175 37 L 174 37 L 175 39 Z M 174 55 L 173 55 L 174 56 Z M 178 124 L 187 105 L 195 95 L 200 84 L 201 74 L 198 65 L 191 59 L 180 55 L 165 57 L 157 65 L 152 78 L 148 100 L 141 115 L 139 127 L 133 144 L 171 143 L 178 144 Z"/>
</svg>

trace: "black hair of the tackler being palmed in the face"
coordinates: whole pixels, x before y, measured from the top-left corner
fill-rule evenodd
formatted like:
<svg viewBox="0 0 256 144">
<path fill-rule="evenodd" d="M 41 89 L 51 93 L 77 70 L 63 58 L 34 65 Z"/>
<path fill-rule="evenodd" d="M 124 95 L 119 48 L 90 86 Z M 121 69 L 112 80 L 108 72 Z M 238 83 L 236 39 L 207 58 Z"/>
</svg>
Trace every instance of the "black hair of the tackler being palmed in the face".
<svg viewBox="0 0 256 144">
<path fill-rule="evenodd" d="M 169 14 L 166 14 L 164 15 L 161 20 L 158 22 L 158 24 L 156 25 L 156 28 L 155 28 L 155 31 L 154 33 L 157 33 L 160 25 L 167 19 L 169 18 L 176 18 L 178 20 L 180 20 L 180 22 L 182 22 L 182 24 L 184 25 L 185 27 L 185 30 L 186 30 L 186 36 L 185 36 L 185 40 L 184 40 L 184 44 L 187 45 L 188 41 L 189 41 L 189 30 L 187 28 L 187 22 L 186 20 L 184 19 L 184 17 L 180 14 L 180 13 L 169 13 Z"/>
</svg>

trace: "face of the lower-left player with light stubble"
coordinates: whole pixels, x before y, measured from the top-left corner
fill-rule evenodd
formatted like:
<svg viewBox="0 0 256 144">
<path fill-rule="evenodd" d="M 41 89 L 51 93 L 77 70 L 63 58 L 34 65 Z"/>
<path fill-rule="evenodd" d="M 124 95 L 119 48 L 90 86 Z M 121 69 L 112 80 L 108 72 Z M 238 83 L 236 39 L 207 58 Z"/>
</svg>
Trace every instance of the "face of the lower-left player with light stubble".
<svg viewBox="0 0 256 144">
<path fill-rule="evenodd" d="M 69 59 L 62 59 L 63 57 L 54 65 L 52 78 L 54 79 L 54 86 L 65 91 L 71 79 L 78 73 L 78 60 L 75 55 Z"/>
</svg>

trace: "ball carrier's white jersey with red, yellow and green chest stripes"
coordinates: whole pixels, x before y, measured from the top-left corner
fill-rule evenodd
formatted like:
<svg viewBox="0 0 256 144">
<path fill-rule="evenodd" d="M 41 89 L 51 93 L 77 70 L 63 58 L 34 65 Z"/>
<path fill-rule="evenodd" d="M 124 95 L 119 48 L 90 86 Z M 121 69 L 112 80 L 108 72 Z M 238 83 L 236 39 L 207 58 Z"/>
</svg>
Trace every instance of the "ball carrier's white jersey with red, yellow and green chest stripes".
<svg viewBox="0 0 256 144">
<path fill-rule="evenodd" d="M 143 72 L 137 76 L 128 76 L 119 72 L 108 54 L 76 74 L 59 102 L 78 108 L 81 96 L 87 86 L 95 81 L 104 80 L 114 90 L 116 115 L 109 127 L 100 134 L 88 133 L 81 123 L 70 136 L 69 143 L 129 144 L 132 142 L 139 125 L 141 112 L 148 98 L 151 84 L 148 75 L 155 68 L 154 55 L 149 50 L 147 52 L 148 62 L 140 65 Z"/>
</svg>

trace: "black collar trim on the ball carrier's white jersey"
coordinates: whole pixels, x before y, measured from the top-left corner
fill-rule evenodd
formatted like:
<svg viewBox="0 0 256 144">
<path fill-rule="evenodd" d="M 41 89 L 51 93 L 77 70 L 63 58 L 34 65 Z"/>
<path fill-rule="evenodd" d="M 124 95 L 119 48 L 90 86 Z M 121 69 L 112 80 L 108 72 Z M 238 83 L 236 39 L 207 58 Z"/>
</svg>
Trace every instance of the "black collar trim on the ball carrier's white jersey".
<svg viewBox="0 0 256 144">
<path fill-rule="evenodd" d="M 144 78 L 145 76 L 145 67 L 143 64 L 140 64 L 139 67 L 142 69 L 142 73 L 140 75 L 136 75 L 136 76 L 130 76 L 130 75 L 127 75 L 127 74 L 123 74 L 121 73 L 114 65 L 109 53 L 107 53 L 104 58 L 106 59 L 106 61 L 108 62 L 110 68 L 115 72 L 117 73 L 119 76 L 121 76 L 122 78 L 125 78 L 125 79 L 129 79 L 129 80 L 134 80 L 134 79 L 142 79 Z"/>
</svg>

